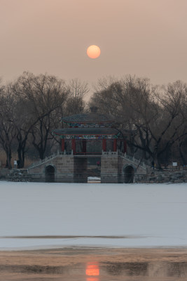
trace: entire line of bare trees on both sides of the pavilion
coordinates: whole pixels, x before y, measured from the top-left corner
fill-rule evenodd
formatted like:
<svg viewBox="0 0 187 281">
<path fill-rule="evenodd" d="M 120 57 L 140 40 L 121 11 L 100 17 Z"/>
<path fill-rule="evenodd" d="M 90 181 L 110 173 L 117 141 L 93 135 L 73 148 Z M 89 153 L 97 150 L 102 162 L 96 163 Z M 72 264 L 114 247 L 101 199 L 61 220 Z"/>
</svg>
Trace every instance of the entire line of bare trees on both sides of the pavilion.
<svg viewBox="0 0 187 281">
<path fill-rule="evenodd" d="M 20 167 L 25 154 L 40 159 L 60 143 L 51 134 L 60 117 L 88 111 L 113 116 L 113 126 L 123 133 L 128 153 L 161 164 L 187 164 L 187 85 L 176 81 L 153 86 L 149 79 L 125 76 L 100 79 L 88 103 L 88 84 L 78 79 L 64 81 L 48 74 L 24 72 L 16 81 L 0 86 L 0 145 L 11 169 L 12 152 L 18 152 Z"/>
</svg>

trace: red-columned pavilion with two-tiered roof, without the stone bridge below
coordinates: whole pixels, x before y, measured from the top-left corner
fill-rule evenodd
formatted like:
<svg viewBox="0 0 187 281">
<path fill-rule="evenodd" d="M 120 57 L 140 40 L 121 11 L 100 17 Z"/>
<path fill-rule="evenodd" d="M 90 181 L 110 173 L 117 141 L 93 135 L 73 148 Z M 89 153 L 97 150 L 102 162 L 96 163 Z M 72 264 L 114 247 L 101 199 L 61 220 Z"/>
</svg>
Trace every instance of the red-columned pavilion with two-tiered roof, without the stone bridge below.
<svg viewBox="0 0 187 281">
<path fill-rule="evenodd" d="M 123 134 L 113 126 L 113 118 L 98 114 L 95 107 L 91 107 L 90 114 L 62 117 L 61 121 L 64 128 L 52 132 L 62 139 L 62 152 L 102 155 L 102 152 L 116 152 L 118 149 L 125 153 L 127 150 Z"/>
</svg>

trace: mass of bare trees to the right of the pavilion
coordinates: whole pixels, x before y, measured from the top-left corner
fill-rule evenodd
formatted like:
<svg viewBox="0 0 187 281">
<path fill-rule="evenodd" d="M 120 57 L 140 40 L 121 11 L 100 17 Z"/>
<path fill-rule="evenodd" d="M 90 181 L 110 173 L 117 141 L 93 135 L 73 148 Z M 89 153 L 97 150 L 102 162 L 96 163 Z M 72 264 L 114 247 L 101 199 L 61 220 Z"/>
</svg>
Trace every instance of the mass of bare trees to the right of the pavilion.
<svg viewBox="0 0 187 281">
<path fill-rule="evenodd" d="M 109 113 L 127 136 L 131 155 L 150 164 L 187 164 L 187 85 L 153 86 L 149 79 L 125 76 L 99 80 L 90 99 Z"/>
</svg>

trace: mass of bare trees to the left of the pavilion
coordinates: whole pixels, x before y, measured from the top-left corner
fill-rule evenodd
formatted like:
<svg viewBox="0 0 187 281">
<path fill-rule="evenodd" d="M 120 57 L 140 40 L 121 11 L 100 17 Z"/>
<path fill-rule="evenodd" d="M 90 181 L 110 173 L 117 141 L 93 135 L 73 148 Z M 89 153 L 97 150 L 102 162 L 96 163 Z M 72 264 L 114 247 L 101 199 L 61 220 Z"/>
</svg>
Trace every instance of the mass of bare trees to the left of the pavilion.
<svg viewBox="0 0 187 281">
<path fill-rule="evenodd" d="M 55 140 L 51 129 L 60 127 L 60 117 L 83 112 L 88 85 L 78 79 L 68 83 L 48 74 L 24 72 L 0 87 L 0 145 L 11 169 L 12 152 L 18 152 L 20 168 L 29 150 L 40 159 L 50 153 Z M 34 148 L 34 150 L 33 150 Z"/>
</svg>

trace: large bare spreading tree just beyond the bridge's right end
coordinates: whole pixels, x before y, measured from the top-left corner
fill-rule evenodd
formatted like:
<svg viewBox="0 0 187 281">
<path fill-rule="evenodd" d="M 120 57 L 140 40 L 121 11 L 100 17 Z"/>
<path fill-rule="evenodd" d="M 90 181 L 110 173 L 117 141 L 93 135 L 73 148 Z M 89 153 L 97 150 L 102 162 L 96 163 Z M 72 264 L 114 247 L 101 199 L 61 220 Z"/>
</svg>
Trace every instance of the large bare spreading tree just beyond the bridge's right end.
<svg viewBox="0 0 187 281">
<path fill-rule="evenodd" d="M 127 99 L 130 118 L 137 129 L 133 145 L 143 150 L 161 169 L 160 157 L 186 134 L 183 105 L 186 103 L 186 84 L 176 81 L 161 90 L 137 87 L 135 99 Z M 136 101 L 136 102 L 134 102 Z"/>
</svg>

